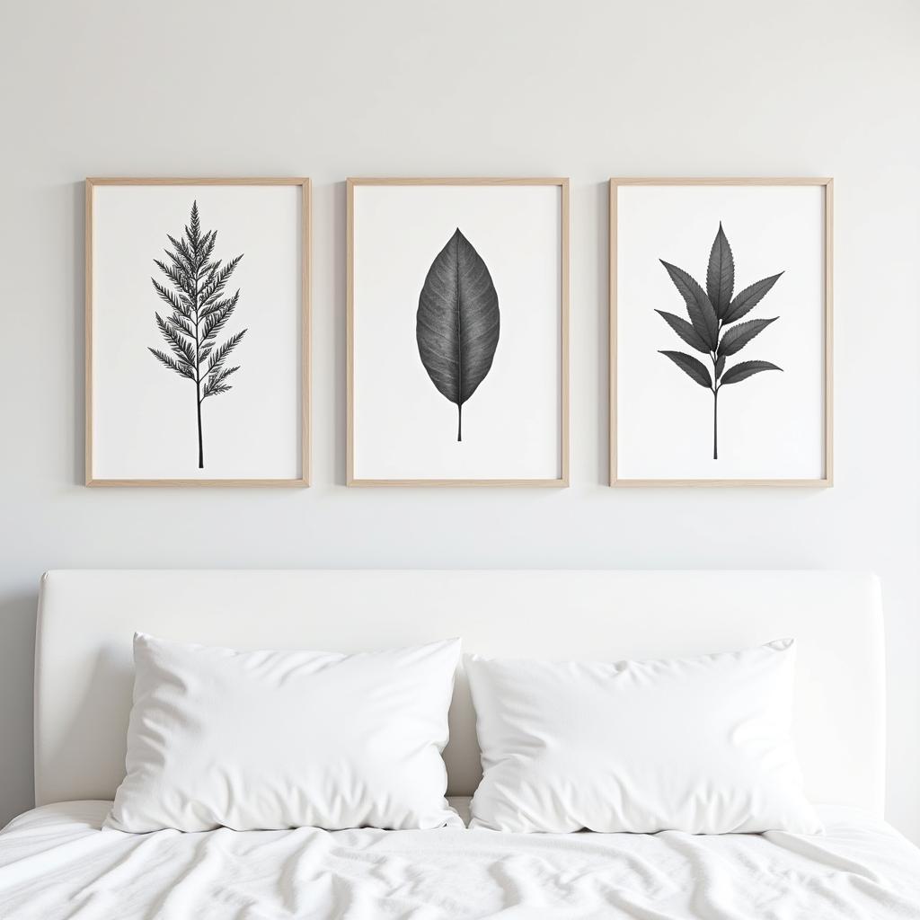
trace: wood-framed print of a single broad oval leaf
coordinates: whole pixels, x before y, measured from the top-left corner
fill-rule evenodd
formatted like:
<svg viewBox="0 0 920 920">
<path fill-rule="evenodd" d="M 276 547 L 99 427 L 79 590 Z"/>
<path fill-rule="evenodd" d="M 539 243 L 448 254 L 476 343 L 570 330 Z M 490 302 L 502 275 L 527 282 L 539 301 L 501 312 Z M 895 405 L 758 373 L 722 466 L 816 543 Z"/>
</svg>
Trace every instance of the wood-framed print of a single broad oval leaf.
<svg viewBox="0 0 920 920">
<path fill-rule="evenodd" d="M 567 486 L 569 180 L 348 180 L 348 484 Z"/>
</svg>

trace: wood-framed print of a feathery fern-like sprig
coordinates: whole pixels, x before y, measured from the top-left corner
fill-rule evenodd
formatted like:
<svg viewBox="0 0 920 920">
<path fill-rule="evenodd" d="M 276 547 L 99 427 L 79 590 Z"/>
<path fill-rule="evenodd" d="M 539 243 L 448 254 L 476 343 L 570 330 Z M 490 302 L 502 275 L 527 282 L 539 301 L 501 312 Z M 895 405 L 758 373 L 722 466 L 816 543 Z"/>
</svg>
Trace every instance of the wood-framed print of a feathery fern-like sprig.
<svg viewBox="0 0 920 920">
<path fill-rule="evenodd" d="M 86 179 L 86 485 L 306 486 L 310 180 Z"/>
</svg>

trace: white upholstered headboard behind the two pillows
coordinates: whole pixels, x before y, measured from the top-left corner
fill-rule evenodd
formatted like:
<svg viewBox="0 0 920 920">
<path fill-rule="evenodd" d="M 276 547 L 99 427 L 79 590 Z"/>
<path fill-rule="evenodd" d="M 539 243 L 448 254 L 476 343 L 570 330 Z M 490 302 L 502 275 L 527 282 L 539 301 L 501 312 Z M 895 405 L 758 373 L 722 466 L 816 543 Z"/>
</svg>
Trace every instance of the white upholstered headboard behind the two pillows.
<svg viewBox="0 0 920 920">
<path fill-rule="evenodd" d="M 874 576 L 830 571 L 71 570 L 41 584 L 38 804 L 110 799 L 124 773 L 135 630 L 238 649 L 356 651 L 459 636 L 495 656 L 621 659 L 798 640 L 811 797 L 881 813 L 884 650 Z M 462 675 L 450 791 L 479 776 Z"/>
</svg>

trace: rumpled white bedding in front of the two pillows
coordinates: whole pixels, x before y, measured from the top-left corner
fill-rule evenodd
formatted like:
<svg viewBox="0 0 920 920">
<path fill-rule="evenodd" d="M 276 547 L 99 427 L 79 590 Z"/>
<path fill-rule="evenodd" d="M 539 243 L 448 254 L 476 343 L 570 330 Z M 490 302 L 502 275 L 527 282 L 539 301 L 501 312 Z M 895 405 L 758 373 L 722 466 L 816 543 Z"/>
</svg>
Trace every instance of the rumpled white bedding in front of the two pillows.
<svg viewBox="0 0 920 920">
<path fill-rule="evenodd" d="M 820 809 L 821 836 L 702 837 L 122 834 L 100 830 L 110 806 L 46 805 L 7 825 L 3 920 L 920 918 L 920 850 L 854 809 Z"/>
</svg>

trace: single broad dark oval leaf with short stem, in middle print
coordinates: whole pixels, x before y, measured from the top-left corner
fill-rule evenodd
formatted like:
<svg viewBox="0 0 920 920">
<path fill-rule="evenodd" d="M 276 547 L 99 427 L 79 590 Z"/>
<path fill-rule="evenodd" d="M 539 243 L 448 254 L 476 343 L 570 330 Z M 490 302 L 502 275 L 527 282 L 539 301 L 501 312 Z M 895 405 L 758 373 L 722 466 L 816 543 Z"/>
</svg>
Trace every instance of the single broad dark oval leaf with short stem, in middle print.
<svg viewBox="0 0 920 920">
<path fill-rule="evenodd" d="M 489 374 L 499 344 L 499 295 L 489 268 L 459 227 L 431 262 L 415 336 L 431 383 L 456 405 L 461 441 L 463 404 Z"/>
</svg>

